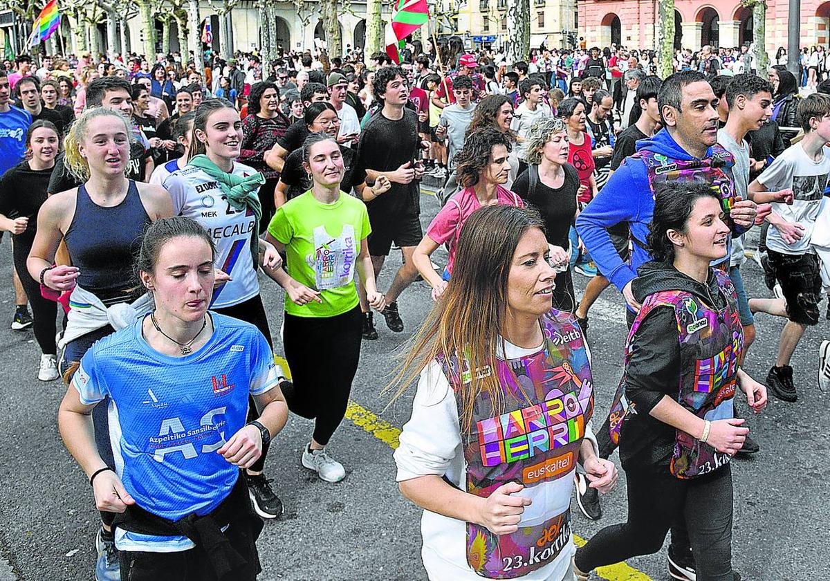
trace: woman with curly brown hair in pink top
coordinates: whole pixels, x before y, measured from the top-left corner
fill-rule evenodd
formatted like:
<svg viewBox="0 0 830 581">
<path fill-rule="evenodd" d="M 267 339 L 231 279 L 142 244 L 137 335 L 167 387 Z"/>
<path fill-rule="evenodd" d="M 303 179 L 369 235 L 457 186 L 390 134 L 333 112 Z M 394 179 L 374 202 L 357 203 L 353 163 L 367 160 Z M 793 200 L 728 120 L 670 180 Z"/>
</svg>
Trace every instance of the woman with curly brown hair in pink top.
<svg viewBox="0 0 830 581">
<path fill-rule="evenodd" d="M 437 300 L 447 289 L 461 226 L 471 213 L 496 204 L 524 207 L 521 198 L 504 186 L 510 173 L 507 163 L 510 149 L 507 135 L 495 127 L 481 127 L 466 135 L 464 148 L 456 157 L 458 184 L 463 189 L 448 199 L 441 212 L 432 219 L 427 235 L 413 254 L 415 267 L 423 280 L 432 286 L 432 300 Z M 442 276 L 432 268 L 429 257 L 445 242 L 449 244 L 450 252 Z"/>
</svg>

